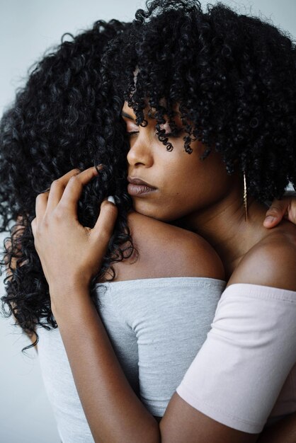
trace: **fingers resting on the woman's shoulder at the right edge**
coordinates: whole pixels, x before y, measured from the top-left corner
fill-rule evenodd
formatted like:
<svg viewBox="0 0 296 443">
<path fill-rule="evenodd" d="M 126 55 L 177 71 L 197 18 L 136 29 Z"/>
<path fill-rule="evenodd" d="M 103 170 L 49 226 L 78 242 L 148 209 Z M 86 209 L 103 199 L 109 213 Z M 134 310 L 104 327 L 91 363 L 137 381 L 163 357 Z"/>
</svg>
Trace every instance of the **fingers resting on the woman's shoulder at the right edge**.
<svg viewBox="0 0 296 443">
<path fill-rule="evenodd" d="M 263 222 L 263 226 L 273 228 L 277 226 L 283 218 L 296 224 L 296 197 L 294 193 L 283 197 L 282 200 L 273 200 L 271 207 L 266 212 L 266 219 Z"/>
</svg>

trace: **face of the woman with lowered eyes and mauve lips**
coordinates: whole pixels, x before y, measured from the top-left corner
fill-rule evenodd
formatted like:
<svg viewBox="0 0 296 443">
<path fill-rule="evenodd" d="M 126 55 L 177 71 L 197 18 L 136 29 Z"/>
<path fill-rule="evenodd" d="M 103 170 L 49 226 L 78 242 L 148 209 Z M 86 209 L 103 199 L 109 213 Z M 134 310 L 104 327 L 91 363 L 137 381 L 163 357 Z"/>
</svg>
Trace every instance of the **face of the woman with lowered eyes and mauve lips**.
<svg viewBox="0 0 296 443">
<path fill-rule="evenodd" d="M 137 212 L 172 222 L 215 205 L 227 195 L 233 178 L 227 175 L 219 154 L 212 152 L 207 159 L 200 160 L 204 146 L 198 141 L 191 142 L 193 152 L 186 153 L 183 132 L 169 137 L 173 151 L 167 151 L 156 135 L 156 120 L 147 113 L 145 118 L 148 125 L 138 126 L 132 108 L 127 103 L 123 106 L 130 138 L 127 190 Z M 175 122 L 181 128 L 178 115 Z M 162 129 L 169 134 L 168 124 Z"/>
</svg>

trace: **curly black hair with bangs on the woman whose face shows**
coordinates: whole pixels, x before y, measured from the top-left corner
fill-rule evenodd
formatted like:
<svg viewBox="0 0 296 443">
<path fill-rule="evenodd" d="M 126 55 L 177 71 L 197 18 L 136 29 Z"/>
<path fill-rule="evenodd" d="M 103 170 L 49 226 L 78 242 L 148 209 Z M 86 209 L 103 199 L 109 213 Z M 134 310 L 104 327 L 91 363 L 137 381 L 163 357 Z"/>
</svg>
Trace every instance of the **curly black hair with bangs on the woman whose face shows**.
<svg viewBox="0 0 296 443">
<path fill-rule="evenodd" d="M 103 64 L 138 125 L 147 125 L 144 108 L 155 108 L 166 149 L 173 146 L 160 125 L 167 119 L 177 134 L 178 104 L 188 154 L 193 139 L 205 146 L 202 158 L 219 152 L 261 202 L 295 184 L 296 52 L 288 33 L 221 3 L 203 12 L 199 1 L 148 1 Z"/>
</svg>

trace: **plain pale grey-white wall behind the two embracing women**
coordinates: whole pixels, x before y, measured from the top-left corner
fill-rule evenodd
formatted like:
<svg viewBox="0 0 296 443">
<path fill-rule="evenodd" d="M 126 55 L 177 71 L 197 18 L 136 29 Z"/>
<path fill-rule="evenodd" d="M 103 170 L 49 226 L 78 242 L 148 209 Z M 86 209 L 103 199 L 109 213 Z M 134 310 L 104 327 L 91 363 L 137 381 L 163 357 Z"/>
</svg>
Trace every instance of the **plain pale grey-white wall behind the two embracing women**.
<svg viewBox="0 0 296 443">
<path fill-rule="evenodd" d="M 201 1 L 204 5 L 207 2 Z M 215 4 L 217 1 L 212 0 Z M 263 15 L 296 36 L 295 0 L 224 1 L 241 13 Z M 98 19 L 132 20 L 141 0 L 0 0 L 0 115 L 45 50 L 63 33 L 90 28 Z M 0 178 L 1 179 L 1 178 Z M 4 236 L 0 236 L 0 245 Z M 4 286 L 0 283 L 0 297 Z M 11 320 L 0 317 L 0 442 L 59 443 L 35 350 Z"/>
</svg>

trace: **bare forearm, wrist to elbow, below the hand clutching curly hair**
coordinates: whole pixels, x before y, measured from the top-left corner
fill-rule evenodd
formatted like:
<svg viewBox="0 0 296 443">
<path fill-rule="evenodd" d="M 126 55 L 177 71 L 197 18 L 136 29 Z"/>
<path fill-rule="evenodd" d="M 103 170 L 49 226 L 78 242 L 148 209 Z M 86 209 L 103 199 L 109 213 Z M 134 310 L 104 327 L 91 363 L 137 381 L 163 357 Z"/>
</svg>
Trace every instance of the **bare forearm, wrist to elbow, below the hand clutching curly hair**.
<svg viewBox="0 0 296 443">
<path fill-rule="evenodd" d="M 128 384 L 89 293 L 79 292 L 63 294 L 71 302 L 54 315 L 93 438 L 160 442 L 159 424 Z"/>
</svg>

